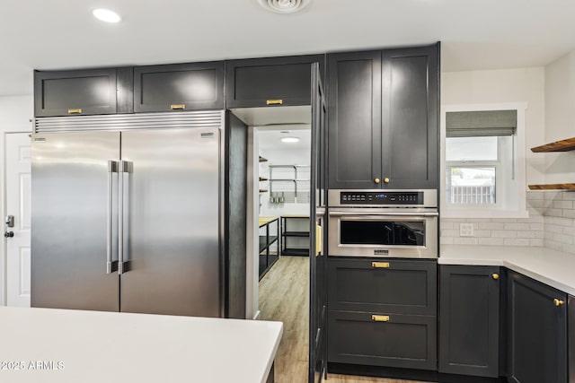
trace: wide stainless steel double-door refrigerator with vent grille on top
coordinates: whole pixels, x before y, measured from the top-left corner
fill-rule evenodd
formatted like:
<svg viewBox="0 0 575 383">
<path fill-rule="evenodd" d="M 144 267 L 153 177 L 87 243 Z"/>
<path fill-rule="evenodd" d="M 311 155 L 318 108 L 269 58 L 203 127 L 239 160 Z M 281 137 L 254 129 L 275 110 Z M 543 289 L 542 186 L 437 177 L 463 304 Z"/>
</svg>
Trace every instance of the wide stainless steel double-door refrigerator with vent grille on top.
<svg viewBox="0 0 575 383">
<path fill-rule="evenodd" d="M 32 307 L 221 317 L 223 121 L 38 118 Z"/>
</svg>

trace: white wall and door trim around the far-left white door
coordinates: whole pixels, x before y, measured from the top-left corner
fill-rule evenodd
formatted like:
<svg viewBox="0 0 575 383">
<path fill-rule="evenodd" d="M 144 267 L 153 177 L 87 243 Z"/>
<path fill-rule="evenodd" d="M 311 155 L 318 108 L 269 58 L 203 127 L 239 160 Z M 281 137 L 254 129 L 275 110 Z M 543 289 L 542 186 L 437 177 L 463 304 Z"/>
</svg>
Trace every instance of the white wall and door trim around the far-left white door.
<svg viewBox="0 0 575 383">
<path fill-rule="evenodd" d="M 34 117 L 31 95 L 0 97 L 0 196 L 2 197 L 2 217 L 6 215 L 4 185 L 4 137 L 8 132 L 31 132 L 31 119 Z M 4 220 L 3 220 L 4 222 Z M 3 223 L 4 230 L 4 223 Z M 2 231 L 4 233 L 4 231 Z M 4 236 L 2 237 L 4 239 Z M 0 305 L 5 305 L 6 287 L 6 239 L 0 247 Z"/>
</svg>

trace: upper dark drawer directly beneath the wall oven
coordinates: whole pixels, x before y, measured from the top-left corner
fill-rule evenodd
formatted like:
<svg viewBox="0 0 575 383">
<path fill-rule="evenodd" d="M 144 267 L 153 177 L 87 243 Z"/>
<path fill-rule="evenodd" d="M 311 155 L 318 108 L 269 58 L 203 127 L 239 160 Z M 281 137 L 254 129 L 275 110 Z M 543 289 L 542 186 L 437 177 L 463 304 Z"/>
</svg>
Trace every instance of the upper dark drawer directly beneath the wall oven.
<svg viewBox="0 0 575 383">
<path fill-rule="evenodd" d="M 436 261 L 331 257 L 329 306 L 332 310 L 433 316 L 437 313 L 437 278 Z"/>
</svg>

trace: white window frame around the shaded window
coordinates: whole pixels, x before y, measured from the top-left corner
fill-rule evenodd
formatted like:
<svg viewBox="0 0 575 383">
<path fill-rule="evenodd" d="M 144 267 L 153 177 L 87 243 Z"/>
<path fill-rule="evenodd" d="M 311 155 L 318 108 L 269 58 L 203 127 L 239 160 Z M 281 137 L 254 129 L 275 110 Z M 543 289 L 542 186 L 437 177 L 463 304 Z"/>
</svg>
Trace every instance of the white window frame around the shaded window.
<svg viewBox="0 0 575 383">
<path fill-rule="evenodd" d="M 525 111 L 527 104 L 517 103 L 497 103 L 497 104 L 461 104 L 444 105 L 441 107 L 440 121 L 440 205 L 441 216 L 443 218 L 526 218 L 529 213 L 526 211 L 526 128 Z M 517 191 L 513 194 L 517 198 L 515 209 L 504 209 L 500 205 L 500 185 L 501 179 L 497 179 L 496 168 L 496 203 L 493 205 L 452 205 L 447 204 L 446 197 L 446 115 L 449 112 L 482 111 L 482 110 L 517 110 L 517 129 L 515 135 L 515 161 L 514 174 L 517 180 Z M 498 144 L 500 146 L 500 143 Z M 500 157 L 499 153 L 499 157 Z M 487 164 L 488 161 L 475 161 L 478 164 Z M 450 162 L 453 164 L 454 162 Z M 461 162 L 462 165 L 464 162 Z M 473 161 L 468 162 L 473 166 Z"/>
</svg>

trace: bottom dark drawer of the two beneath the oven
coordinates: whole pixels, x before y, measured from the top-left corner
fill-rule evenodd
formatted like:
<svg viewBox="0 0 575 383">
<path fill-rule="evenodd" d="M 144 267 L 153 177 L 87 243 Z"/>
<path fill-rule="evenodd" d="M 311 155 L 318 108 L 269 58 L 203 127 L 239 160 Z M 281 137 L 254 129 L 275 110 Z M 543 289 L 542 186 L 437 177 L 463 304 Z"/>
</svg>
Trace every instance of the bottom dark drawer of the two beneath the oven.
<svg viewBox="0 0 575 383">
<path fill-rule="evenodd" d="M 435 370 L 435 317 L 330 311 L 328 361 L 371 366 Z M 381 318 L 380 318 L 381 319 Z"/>
</svg>

